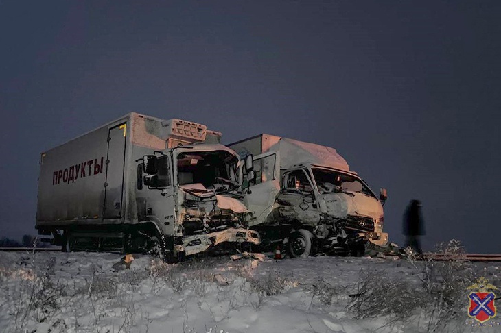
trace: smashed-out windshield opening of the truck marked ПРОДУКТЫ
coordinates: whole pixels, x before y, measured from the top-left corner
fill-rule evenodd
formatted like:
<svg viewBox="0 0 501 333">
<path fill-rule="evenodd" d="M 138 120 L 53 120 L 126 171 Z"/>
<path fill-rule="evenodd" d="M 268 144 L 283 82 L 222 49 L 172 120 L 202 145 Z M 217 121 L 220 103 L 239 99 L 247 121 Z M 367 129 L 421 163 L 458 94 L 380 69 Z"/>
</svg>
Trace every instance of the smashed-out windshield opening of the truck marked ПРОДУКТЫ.
<svg viewBox="0 0 501 333">
<path fill-rule="evenodd" d="M 178 156 L 178 184 L 202 184 L 205 188 L 238 186 L 238 159 L 228 151 L 189 151 Z M 216 186 L 218 184 L 218 186 Z"/>
</svg>

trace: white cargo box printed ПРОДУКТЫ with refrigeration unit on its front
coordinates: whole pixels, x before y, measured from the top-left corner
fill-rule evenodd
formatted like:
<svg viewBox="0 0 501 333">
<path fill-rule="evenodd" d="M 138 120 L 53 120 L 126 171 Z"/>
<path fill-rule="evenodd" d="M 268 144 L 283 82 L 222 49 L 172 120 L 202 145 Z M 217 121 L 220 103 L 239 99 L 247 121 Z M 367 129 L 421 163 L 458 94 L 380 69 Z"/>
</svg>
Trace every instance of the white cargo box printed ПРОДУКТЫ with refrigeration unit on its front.
<svg viewBox="0 0 501 333">
<path fill-rule="evenodd" d="M 205 125 L 130 113 L 40 158 L 36 227 L 132 221 L 128 184 L 135 182 L 133 150 L 165 149 L 205 142 L 221 134 Z"/>
</svg>

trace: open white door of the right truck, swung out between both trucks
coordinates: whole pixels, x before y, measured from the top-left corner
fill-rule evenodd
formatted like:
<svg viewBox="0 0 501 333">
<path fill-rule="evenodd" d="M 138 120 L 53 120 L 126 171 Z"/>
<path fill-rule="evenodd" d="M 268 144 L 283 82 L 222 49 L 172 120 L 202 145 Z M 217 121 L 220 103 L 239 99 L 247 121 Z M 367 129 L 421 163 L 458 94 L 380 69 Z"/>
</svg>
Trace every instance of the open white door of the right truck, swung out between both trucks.
<svg viewBox="0 0 501 333">
<path fill-rule="evenodd" d="M 261 153 L 254 156 L 254 171 L 256 177 L 254 180 L 246 180 L 244 177 L 244 204 L 250 212 L 253 212 L 254 218 L 249 225 L 263 223 L 270 214 L 275 204 L 275 197 L 280 190 L 280 164 L 279 153 L 273 151 L 270 153 Z"/>
</svg>

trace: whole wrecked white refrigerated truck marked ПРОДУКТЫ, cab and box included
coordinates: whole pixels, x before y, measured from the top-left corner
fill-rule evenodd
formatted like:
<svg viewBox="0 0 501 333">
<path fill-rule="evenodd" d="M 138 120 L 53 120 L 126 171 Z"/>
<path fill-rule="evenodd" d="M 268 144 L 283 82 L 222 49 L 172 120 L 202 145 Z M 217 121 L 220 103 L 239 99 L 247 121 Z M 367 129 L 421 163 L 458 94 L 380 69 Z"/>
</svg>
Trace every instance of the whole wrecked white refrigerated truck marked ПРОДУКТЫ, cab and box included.
<svg viewBox="0 0 501 333">
<path fill-rule="evenodd" d="M 167 260 L 257 245 L 220 132 L 137 113 L 45 151 L 36 229 L 72 249 L 156 251 Z"/>
</svg>

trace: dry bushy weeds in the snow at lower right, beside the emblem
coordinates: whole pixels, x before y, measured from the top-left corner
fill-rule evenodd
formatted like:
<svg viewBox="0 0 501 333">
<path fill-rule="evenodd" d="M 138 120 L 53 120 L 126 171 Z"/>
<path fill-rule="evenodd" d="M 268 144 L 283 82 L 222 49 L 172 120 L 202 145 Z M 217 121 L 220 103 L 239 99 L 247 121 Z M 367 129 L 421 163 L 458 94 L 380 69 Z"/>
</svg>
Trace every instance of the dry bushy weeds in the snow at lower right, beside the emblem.
<svg viewBox="0 0 501 333">
<path fill-rule="evenodd" d="M 474 280 L 464 248 L 457 240 L 440 244 L 434 253 L 448 261 L 417 261 L 411 249 L 405 251 L 405 260 L 419 277 L 419 283 L 397 280 L 381 271 L 361 271 L 349 308 L 358 318 L 424 320 L 428 332 L 442 332 L 451 319 L 464 315 L 465 291 Z"/>
</svg>

